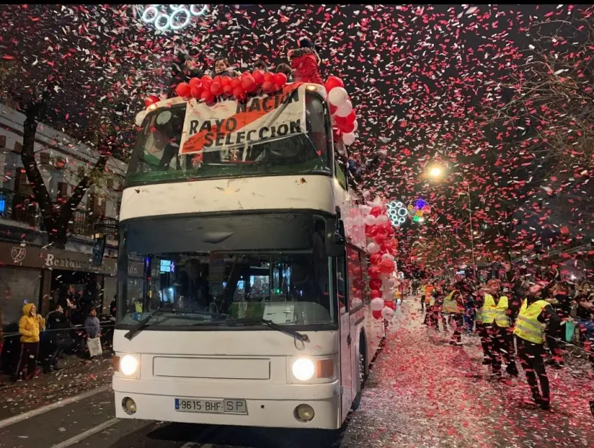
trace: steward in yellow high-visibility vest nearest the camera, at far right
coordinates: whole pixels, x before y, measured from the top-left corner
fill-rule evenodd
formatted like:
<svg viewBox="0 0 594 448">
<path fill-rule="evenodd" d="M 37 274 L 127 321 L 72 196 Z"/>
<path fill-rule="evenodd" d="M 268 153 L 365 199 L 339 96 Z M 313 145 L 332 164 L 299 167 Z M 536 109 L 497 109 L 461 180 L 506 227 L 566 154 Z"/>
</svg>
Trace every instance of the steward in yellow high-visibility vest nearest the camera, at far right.
<svg viewBox="0 0 594 448">
<path fill-rule="evenodd" d="M 551 392 L 549 377 L 546 376 L 544 368 L 543 342 L 545 331 L 549 334 L 555 333 L 560 324 L 560 317 L 548 302 L 542 300 L 542 287 L 542 284 L 536 284 L 530 288 L 516 319 L 514 335 L 518 346 L 518 358 L 526 373 L 534 403 L 548 410 L 551 408 Z M 538 383 L 540 383 L 540 391 Z"/>
</svg>

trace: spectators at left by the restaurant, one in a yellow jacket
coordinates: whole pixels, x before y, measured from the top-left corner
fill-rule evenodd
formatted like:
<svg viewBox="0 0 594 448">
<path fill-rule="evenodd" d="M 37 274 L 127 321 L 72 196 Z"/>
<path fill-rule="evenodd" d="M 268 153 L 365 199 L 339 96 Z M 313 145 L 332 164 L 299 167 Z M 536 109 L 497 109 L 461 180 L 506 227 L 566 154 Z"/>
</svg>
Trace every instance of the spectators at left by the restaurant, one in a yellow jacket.
<svg viewBox="0 0 594 448">
<path fill-rule="evenodd" d="M 11 374 L 15 382 L 36 378 L 42 369 L 43 373 L 60 370 L 58 359 L 62 354 L 75 352 L 82 340 L 101 338 L 101 322 L 96 308 L 92 301 L 77 300 L 73 287 L 68 287 L 57 300 L 50 301 L 50 312 L 45 318 L 38 313 L 34 303 L 25 303 L 18 321 L 18 334 L 6 335 L 6 338 L 13 336 L 18 339 L 18 344 L 11 345 L 17 347 L 17 353 L 0 357 L 13 359 L 14 362 L 1 367 L 4 367 L 5 373 Z M 2 324 L 0 310 L 0 354 L 5 340 Z M 80 332 L 84 334 L 80 335 Z M 42 369 L 38 368 L 38 363 L 41 363 Z"/>
</svg>

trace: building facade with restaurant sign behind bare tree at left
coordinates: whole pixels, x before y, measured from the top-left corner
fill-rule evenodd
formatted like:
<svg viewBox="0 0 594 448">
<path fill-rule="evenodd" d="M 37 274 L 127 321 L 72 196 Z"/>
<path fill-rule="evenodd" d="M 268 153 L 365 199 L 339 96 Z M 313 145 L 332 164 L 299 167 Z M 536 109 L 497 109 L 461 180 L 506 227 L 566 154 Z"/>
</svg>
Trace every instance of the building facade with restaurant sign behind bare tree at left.
<svg viewBox="0 0 594 448">
<path fill-rule="evenodd" d="M 106 310 L 116 294 L 117 231 L 108 231 L 102 266 L 92 263 L 96 224 L 117 224 L 126 164 L 109 159 L 106 173 L 73 211 L 64 250 L 49 244 L 21 155 L 24 115 L 0 104 L 0 308 L 4 324 L 17 321 L 23 303 L 47 312 L 50 299 L 69 287 Z M 38 124 L 38 168 L 52 201 L 66 201 L 99 154 L 45 124 Z"/>
</svg>

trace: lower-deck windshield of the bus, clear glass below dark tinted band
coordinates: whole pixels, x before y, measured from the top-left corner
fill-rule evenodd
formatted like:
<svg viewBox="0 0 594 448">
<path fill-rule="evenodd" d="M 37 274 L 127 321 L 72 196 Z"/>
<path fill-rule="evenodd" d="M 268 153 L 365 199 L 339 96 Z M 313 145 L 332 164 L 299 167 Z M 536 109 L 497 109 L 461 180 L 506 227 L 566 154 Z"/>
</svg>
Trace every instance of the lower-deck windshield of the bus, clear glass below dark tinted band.
<svg viewBox="0 0 594 448">
<path fill-rule="evenodd" d="M 333 324 L 329 259 L 315 253 L 185 252 L 131 254 L 143 273 L 119 278 L 118 324 L 133 326 L 161 310 L 150 328 L 208 327 L 222 321 Z M 166 318 L 166 319 L 164 319 Z"/>
</svg>

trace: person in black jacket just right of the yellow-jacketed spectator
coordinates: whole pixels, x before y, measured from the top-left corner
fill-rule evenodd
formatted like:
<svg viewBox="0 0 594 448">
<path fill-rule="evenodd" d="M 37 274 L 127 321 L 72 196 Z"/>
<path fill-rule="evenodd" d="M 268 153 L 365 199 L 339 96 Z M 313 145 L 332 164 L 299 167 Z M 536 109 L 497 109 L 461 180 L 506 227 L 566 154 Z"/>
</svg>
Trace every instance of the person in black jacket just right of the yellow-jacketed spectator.
<svg viewBox="0 0 594 448">
<path fill-rule="evenodd" d="M 43 373 L 59 370 L 58 356 L 72 345 L 73 326 L 64 315 L 61 305 L 45 317 Z"/>
</svg>

